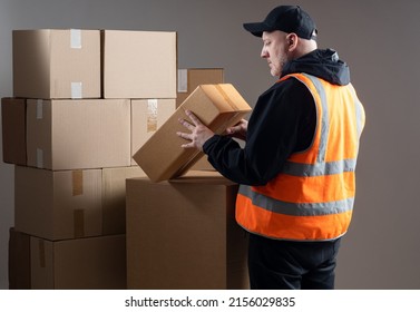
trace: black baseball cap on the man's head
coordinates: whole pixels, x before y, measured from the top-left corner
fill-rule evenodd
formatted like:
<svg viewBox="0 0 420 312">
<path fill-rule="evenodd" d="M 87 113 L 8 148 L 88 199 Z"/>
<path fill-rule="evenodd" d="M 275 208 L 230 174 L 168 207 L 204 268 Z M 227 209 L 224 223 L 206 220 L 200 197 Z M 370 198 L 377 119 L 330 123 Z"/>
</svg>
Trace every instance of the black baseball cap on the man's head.
<svg viewBox="0 0 420 312">
<path fill-rule="evenodd" d="M 244 28 L 256 37 L 262 37 L 264 31 L 274 30 L 294 32 L 303 39 L 315 40 L 318 35 L 315 22 L 299 6 L 279 6 L 262 22 L 244 23 Z"/>
</svg>

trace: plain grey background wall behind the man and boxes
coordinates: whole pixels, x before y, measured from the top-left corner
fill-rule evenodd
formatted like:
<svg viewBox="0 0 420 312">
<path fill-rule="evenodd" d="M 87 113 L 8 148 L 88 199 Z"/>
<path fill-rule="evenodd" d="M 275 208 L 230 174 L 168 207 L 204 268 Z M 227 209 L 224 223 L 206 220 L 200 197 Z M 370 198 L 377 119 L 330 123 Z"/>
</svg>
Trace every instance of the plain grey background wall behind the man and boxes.
<svg viewBox="0 0 420 312">
<path fill-rule="evenodd" d="M 12 95 L 12 29 L 168 30 L 178 32 L 179 68 L 223 67 L 226 81 L 253 105 L 274 79 L 260 59 L 260 40 L 242 23 L 263 19 L 281 3 L 291 2 L 0 0 L 0 96 Z M 320 47 L 336 49 L 351 66 L 367 110 L 354 218 L 343 240 L 336 286 L 420 289 L 420 1 L 295 3 L 316 20 Z M 0 289 L 7 289 L 12 165 L 0 163 Z"/>
</svg>

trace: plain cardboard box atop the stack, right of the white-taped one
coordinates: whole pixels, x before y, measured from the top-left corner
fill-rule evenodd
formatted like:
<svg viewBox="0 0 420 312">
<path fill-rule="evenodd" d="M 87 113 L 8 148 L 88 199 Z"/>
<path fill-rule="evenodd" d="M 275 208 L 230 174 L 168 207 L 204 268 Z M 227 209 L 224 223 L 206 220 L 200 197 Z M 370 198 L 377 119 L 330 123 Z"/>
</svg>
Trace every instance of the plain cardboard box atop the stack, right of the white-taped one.
<svg viewBox="0 0 420 312">
<path fill-rule="evenodd" d="M 104 98 L 176 98 L 176 32 L 102 30 Z"/>
</svg>

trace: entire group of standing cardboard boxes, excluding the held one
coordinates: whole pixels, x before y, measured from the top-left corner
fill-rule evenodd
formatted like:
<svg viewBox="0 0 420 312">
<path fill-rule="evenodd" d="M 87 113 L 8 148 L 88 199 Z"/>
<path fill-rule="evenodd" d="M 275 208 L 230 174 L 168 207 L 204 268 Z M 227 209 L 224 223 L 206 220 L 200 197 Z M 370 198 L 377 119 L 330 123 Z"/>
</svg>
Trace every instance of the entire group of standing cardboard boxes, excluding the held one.
<svg viewBox="0 0 420 312">
<path fill-rule="evenodd" d="M 13 97 L 1 100 L 3 162 L 14 164 L 10 289 L 246 286 L 245 238 L 231 224 L 236 186 L 205 158 L 193 166 L 198 179 L 186 176 L 176 184 L 152 182 L 133 158 L 196 87 L 223 82 L 223 69 L 177 70 L 176 32 L 43 29 L 16 30 L 12 38 Z M 197 198 L 189 205 L 177 197 L 165 202 L 180 188 L 196 196 L 197 185 L 212 203 L 222 199 L 212 213 L 203 214 Z M 175 220 L 174 211 L 165 213 L 168 205 L 179 207 Z M 185 227 L 183 214 L 199 216 L 191 218 L 198 224 L 211 216 L 208 228 L 216 225 L 217 233 L 197 235 L 199 226 Z M 164 217 L 156 221 L 158 215 Z M 174 228 L 163 227 L 172 221 Z M 175 254 L 162 254 L 156 231 L 167 235 L 160 236 L 166 243 L 179 235 Z M 176 285 L 166 277 L 169 271 L 178 276 L 177 270 L 185 275 L 194 270 L 153 264 L 160 256 L 177 262 L 183 250 L 194 254 L 189 236 L 202 237 L 208 253 L 199 256 L 203 265 L 197 259 L 192 264 L 203 271 L 213 263 L 224 277 Z M 208 244 L 211 236 L 218 243 Z M 227 241 L 236 245 L 233 256 Z M 214 248 L 217 261 L 207 259 Z M 238 265 L 227 270 L 227 263 Z"/>
</svg>

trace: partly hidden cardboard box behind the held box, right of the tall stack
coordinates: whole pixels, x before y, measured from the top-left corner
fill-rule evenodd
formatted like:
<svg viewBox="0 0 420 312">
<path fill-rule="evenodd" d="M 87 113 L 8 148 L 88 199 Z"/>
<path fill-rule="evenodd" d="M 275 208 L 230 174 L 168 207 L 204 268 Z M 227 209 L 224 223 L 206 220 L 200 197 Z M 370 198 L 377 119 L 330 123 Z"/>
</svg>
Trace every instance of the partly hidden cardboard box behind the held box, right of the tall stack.
<svg viewBox="0 0 420 312">
<path fill-rule="evenodd" d="M 185 68 L 178 69 L 178 88 L 176 94 L 176 107 L 199 86 L 224 84 L 223 68 Z"/>
</svg>

